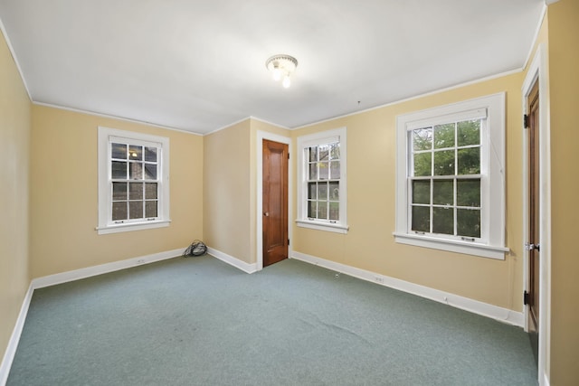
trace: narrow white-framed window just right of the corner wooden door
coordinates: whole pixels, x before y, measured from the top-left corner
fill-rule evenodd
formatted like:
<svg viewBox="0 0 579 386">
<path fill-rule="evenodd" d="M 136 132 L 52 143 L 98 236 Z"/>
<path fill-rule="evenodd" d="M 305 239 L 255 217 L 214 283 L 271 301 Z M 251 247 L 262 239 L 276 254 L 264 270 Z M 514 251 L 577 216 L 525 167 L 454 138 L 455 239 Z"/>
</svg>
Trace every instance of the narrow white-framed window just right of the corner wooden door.
<svg viewBox="0 0 579 386">
<path fill-rule="evenodd" d="M 346 127 L 298 138 L 298 226 L 346 233 Z"/>
</svg>

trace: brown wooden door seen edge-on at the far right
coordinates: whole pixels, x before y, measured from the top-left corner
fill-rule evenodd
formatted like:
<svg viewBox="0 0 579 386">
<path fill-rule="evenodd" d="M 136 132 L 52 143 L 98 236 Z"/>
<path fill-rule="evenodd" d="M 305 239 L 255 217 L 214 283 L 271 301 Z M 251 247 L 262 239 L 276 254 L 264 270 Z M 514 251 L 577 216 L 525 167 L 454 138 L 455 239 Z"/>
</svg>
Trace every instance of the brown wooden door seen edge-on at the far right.
<svg viewBox="0 0 579 386">
<path fill-rule="evenodd" d="M 528 143 L 528 237 L 527 250 L 529 257 L 529 291 L 528 304 L 528 331 L 531 345 L 538 358 L 538 333 L 539 333 L 539 92 L 538 80 L 527 97 L 527 143 Z M 538 362 L 538 361 L 537 361 Z"/>
</svg>

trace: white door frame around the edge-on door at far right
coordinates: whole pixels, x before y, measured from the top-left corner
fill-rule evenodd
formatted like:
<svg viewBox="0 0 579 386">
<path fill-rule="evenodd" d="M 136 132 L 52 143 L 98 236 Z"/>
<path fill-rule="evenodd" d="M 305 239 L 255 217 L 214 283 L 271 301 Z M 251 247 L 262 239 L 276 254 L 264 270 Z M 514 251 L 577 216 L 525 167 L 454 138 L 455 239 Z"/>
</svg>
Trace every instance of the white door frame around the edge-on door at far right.
<svg viewBox="0 0 579 386">
<path fill-rule="evenodd" d="M 551 318 L 551 127 L 550 127 L 550 102 L 547 87 L 547 60 L 546 45 L 541 43 L 536 49 L 536 54 L 523 81 L 522 104 L 523 114 L 527 114 L 527 97 L 535 81 L 539 81 L 539 347 L 538 347 L 538 381 L 546 380 L 546 360 L 548 358 L 548 336 L 550 332 L 549 320 Z M 525 128 L 522 128 L 525 130 Z M 527 165 L 527 136 L 523 136 L 523 244 L 528 240 L 528 165 Z M 529 256 L 524 250 L 523 285 L 524 290 L 529 289 Z M 525 329 L 528 325 L 528 306 L 524 307 Z M 548 380 L 546 380 L 548 384 Z"/>
</svg>

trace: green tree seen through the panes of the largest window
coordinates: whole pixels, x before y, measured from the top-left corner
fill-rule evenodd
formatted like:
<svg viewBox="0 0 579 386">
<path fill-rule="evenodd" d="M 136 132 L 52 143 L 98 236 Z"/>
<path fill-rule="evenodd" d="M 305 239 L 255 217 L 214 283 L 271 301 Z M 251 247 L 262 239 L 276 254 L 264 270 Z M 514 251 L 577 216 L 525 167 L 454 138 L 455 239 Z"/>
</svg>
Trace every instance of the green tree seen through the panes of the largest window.
<svg viewBox="0 0 579 386">
<path fill-rule="evenodd" d="M 410 131 L 412 231 L 480 238 L 481 124 L 473 119 Z"/>
</svg>

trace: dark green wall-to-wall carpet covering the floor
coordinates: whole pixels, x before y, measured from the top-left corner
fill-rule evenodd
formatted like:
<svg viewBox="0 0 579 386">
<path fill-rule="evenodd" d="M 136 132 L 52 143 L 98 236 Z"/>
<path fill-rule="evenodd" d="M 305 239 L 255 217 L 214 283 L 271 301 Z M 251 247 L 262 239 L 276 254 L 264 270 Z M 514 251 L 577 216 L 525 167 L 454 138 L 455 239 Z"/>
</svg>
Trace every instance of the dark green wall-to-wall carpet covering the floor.
<svg viewBox="0 0 579 386">
<path fill-rule="evenodd" d="M 297 260 L 34 291 L 8 385 L 536 385 L 522 329 Z"/>
</svg>

